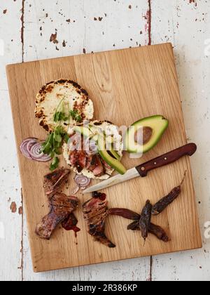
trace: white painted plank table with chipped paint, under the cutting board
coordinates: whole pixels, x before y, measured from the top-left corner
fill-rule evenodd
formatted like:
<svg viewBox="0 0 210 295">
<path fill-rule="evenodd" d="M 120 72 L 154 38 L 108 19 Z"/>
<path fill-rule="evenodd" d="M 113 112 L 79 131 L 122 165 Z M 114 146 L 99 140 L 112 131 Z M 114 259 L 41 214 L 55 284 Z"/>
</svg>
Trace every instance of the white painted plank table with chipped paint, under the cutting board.
<svg viewBox="0 0 210 295">
<path fill-rule="evenodd" d="M 50 42 L 52 34 L 57 41 Z M 34 274 L 6 64 L 167 41 L 176 54 L 188 140 L 198 145 L 192 166 L 203 249 Z M 210 280 L 209 65 L 210 1 L 0 1 L 0 280 Z"/>
</svg>

